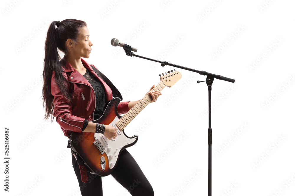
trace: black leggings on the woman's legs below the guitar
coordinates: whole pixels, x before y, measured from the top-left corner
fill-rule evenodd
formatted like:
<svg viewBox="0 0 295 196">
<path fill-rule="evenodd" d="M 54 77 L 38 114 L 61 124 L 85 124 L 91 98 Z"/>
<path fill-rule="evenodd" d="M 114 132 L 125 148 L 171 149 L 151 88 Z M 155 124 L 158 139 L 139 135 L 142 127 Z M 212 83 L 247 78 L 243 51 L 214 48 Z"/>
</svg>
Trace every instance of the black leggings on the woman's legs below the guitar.
<svg viewBox="0 0 295 196">
<path fill-rule="evenodd" d="M 81 174 L 78 163 L 72 153 L 72 163 L 76 173 L 81 195 L 82 196 L 101 196 L 102 183 L 101 176 L 91 174 L 87 171 L 88 181 L 84 183 L 81 181 Z M 132 155 L 124 149 L 119 157 L 117 166 L 111 175 L 117 180 L 131 195 L 153 196 L 154 191 L 150 182 L 143 174 L 139 165 L 136 163 Z M 111 193 L 108 195 L 112 195 Z"/>
</svg>

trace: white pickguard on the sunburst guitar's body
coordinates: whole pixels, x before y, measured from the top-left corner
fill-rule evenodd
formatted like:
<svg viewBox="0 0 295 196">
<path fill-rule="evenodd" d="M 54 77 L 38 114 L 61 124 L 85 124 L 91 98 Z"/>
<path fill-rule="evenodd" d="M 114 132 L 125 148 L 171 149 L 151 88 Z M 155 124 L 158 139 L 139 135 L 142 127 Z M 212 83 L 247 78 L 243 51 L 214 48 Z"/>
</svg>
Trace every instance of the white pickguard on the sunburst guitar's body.
<svg viewBox="0 0 295 196">
<path fill-rule="evenodd" d="M 118 155 L 119 155 L 119 152 L 122 150 L 122 147 L 130 143 L 133 143 L 137 139 L 137 137 L 127 138 L 124 135 L 124 133 L 117 128 L 116 122 L 118 120 L 119 118 L 116 116 L 116 118 L 114 118 L 112 123 L 109 124 L 110 126 L 113 126 L 114 128 L 117 129 L 118 136 L 116 137 L 116 139 L 109 140 L 101 133 L 94 133 L 95 140 L 98 139 L 105 148 L 105 153 L 108 156 L 110 169 L 112 169 L 116 165 L 116 162 L 118 160 Z M 109 151 L 108 148 L 111 148 L 111 150 Z M 111 155 L 113 155 L 112 158 L 111 158 Z"/>
</svg>

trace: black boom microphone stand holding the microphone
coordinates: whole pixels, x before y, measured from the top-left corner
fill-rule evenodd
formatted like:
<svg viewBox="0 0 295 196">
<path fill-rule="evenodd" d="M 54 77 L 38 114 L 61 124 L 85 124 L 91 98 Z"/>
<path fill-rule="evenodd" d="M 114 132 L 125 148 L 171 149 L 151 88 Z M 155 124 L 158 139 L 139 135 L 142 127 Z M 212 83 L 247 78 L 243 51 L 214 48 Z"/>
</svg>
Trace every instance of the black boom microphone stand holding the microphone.
<svg viewBox="0 0 295 196">
<path fill-rule="evenodd" d="M 191 68 L 175 65 L 175 64 L 172 64 L 172 63 L 168 63 L 167 61 L 158 61 L 158 60 L 155 60 L 155 59 L 152 59 L 152 58 L 139 56 L 139 55 L 136 55 L 136 54 L 132 53 L 131 52 L 132 51 L 131 46 L 129 46 L 127 44 L 124 44 L 123 49 L 124 49 L 127 56 L 136 56 L 136 57 L 143 58 L 143 59 L 146 59 L 146 60 L 149 60 L 149 61 L 155 61 L 155 62 L 161 63 L 162 67 L 164 67 L 165 65 L 169 65 L 169 66 L 185 69 L 185 70 L 188 70 L 188 71 L 196 72 L 196 73 L 199 73 L 200 75 L 207 76 L 205 81 L 197 81 L 197 83 L 206 82 L 206 84 L 208 86 L 208 103 L 209 103 L 209 114 L 208 114 L 208 116 L 209 116 L 209 127 L 208 127 L 208 147 L 209 147 L 208 148 L 208 196 L 212 196 L 212 128 L 211 128 L 211 91 L 212 91 L 212 83 L 214 81 L 214 78 L 219 79 L 219 80 L 232 82 L 232 83 L 234 83 L 235 80 L 231 79 L 231 78 L 224 77 L 224 76 L 208 73 L 206 71 L 198 71 L 196 69 L 191 69 Z"/>
</svg>

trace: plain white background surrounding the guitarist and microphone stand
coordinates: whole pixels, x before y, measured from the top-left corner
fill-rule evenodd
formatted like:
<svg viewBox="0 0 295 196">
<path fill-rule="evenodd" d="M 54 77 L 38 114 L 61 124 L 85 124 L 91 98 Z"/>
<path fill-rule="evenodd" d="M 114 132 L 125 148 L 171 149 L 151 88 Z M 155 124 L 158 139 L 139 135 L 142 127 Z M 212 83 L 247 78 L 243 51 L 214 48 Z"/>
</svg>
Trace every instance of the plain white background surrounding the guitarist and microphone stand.
<svg viewBox="0 0 295 196">
<path fill-rule="evenodd" d="M 52 21 L 69 18 L 87 23 L 94 45 L 85 60 L 115 84 L 123 101 L 142 98 L 159 73 L 174 68 L 126 56 L 110 45 L 112 38 L 138 48 L 137 55 L 235 79 L 215 79 L 212 88 L 218 103 L 212 195 L 294 195 L 294 6 L 291 0 L 1 1 L 1 195 L 81 195 L 68 138 L 55 119 L 43 119 L 42 106 L 46 33 Z M 128 151 L 155 195 L 207 195 L 208 92 L 197 83 L 206 76 L 177 70 L 181 80 L 125 129 L 139 136 Z M 129 195 L 112 176 L 103 177 L 103 192 Z"/>
</svg>

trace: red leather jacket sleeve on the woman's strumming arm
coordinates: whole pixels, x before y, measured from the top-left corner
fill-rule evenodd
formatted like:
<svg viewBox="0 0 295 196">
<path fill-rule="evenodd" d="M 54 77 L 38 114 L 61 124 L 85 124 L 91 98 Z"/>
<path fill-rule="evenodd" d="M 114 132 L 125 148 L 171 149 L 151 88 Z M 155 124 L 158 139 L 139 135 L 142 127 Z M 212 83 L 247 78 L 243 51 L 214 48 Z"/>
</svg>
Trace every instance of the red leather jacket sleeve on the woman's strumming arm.
<svg viewBox="0 0 295 196">
<path fill-rule="evenodd" d="M 63 96 L 55 82 L 54 71 L 51 77 L 51 94 L 53 95 L 53 116 L 64 130 L 81 133 L 85 118 L 72 115 L 72 104 Z"/>
</svg>

